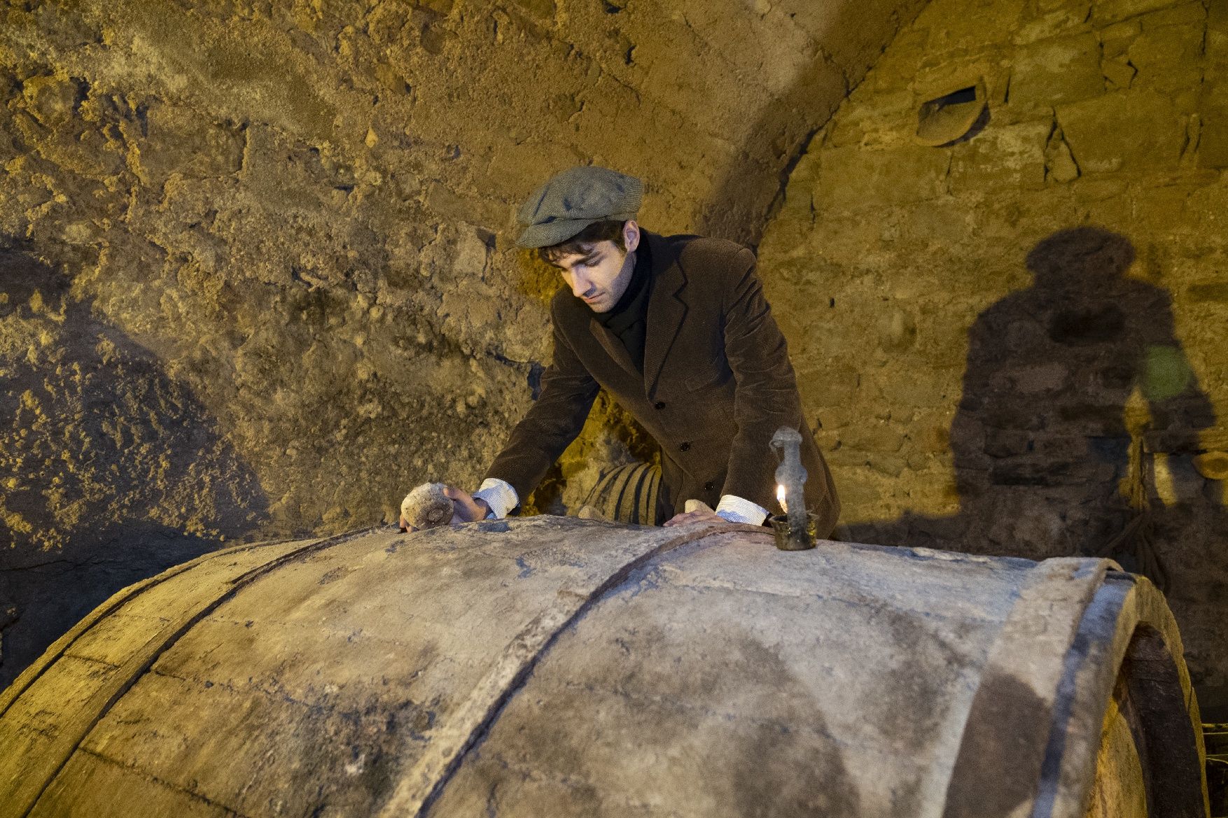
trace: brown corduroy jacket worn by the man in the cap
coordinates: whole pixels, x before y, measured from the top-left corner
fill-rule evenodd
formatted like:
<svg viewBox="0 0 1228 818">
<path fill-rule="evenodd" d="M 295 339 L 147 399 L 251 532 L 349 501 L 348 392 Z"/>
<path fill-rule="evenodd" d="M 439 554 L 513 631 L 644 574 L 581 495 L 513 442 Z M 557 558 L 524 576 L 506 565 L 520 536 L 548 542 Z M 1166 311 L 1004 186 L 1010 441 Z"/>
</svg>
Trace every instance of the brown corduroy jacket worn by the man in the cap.
<svg viewBox="0 0 1228 818">
<path fill-rule="evenodd" d="M 802 434 L 806 502 L 828 536 L 840 512 L 831 473 L 802 418 L 785 337 L 749 249 L 718 238 L 642 231 L 652 258 L 643 373 L 567 287 L 550 305 L 554 362 L 542 394 L 486 477 L 523 499 L 585 425 L 604 387 L 661 445 L 666 513 L 733 494 L 776 507 L 780 426 Z"/>
</svg>

